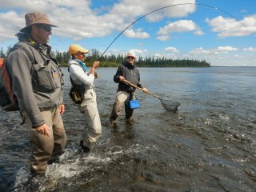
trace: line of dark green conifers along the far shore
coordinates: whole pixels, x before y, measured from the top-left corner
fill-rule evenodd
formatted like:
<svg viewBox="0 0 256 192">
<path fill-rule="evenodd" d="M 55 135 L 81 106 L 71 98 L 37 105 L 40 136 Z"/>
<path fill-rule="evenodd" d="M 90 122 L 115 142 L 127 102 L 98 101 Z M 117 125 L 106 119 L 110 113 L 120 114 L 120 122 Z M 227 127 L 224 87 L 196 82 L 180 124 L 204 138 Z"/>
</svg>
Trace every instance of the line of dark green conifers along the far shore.
<svg viewBox="0 0 256 192">
<path fill-rule="evenodd" d="M 8 47 L 10 50 L 10 47 Z M 7 51 L 8 52 L 8 51 Z M 68 62 L 70 60 L 70 53 L 55 51 L 51 52 L 52 56 L 57 59 L 61 66 L 68 66 Z M 6 58 L 6 54 L 4 54 L 3 49 L 0 50 L 0 58 Z M 86 57 L 86 65 L 92 66 L 92 63 L 100 58 L 101 67 L 110 67 L 119 66 L 122 62 L 126 61 L 126 55 L 118 54 L 110 54 L 104 55 L 101 58 L 101 54 L 98 50 L 92 49 Z M 136 59 L 136 66 L 138 67 L 210 67 L 210 63 L 205 60 L 199 61 L 196 59 L 171 59 L 171 58 L 155 58 L 154 56 L 149 56 L 146 58 L 142 58 L 138 56 Z"/>
</svg>

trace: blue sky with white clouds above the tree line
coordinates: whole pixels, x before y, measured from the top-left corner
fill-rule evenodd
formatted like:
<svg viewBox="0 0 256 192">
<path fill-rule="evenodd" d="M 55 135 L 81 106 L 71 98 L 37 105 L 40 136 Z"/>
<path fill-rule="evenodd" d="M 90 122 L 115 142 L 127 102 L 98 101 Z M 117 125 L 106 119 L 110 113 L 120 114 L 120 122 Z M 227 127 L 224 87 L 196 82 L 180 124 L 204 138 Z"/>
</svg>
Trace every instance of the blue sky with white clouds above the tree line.
<svg viewBox="0 0 256 192">
<path fill-rule="evenodd" d="M 143 58 L 256 66 L 256 0 L 1 0 L 0 7 L 4 51 L 18 42 L 25 14 L 41 12 L 58 26 L 54 51 L 79 44 L 106 55 L 134 50 Z"/>
</svg>

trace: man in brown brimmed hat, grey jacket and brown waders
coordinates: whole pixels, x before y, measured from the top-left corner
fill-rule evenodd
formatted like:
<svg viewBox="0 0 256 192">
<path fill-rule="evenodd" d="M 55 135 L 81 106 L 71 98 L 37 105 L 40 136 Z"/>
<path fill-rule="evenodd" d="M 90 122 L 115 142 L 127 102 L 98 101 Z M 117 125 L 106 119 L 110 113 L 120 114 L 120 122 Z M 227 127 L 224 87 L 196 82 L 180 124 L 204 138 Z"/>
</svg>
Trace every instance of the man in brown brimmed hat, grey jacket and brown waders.
<svg viewBox="0 0 256 192">
<path fill-rule="evenodd" d="M 19 42 L 10 50 L 7 69 L 18 108 L 30 128 L 32 174 L 45 174 L 47 162 L 58 159 L 66 146 L 61 114 L 63 75 L 58 62 L 50 56 L 51 24 L 46 14 L 25 15 L 26 26 L 20 30 Z"/>
</svg>

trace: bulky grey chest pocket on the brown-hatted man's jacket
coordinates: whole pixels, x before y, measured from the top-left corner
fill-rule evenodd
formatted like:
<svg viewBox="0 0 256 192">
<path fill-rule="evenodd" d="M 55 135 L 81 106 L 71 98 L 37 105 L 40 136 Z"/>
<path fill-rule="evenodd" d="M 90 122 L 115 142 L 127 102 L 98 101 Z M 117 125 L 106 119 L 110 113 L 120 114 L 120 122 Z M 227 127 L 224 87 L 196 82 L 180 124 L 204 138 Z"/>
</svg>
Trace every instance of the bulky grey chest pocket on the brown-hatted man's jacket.
<svg viewBox="0 0 256 192">
<path fill-rule="evenodd" d="M 35 64 L 34 70 L 36 90 L 50 91 L 61 86 L 58 70 L 54 69 L 50 60 Z"/>
</svg>

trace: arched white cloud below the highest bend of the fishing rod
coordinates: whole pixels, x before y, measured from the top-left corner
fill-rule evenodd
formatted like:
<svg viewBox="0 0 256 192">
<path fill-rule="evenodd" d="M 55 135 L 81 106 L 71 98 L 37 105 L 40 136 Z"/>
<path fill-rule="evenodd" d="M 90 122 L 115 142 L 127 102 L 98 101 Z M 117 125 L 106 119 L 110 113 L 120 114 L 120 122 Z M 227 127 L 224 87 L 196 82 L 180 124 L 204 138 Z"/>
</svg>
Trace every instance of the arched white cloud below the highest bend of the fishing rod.
<svg viewBox="0 0 256 192">
<path fill-rule="evenodd" d="M 164 40 L 168 39 L 168 36 L 171 33 L 178 32 L 188 32 L 188 31 L 194 31 L 194 34 L 204 34 L 202 30 L 200 30 L 199 26 L 191 21 L 191 20 L 179 20 L 177 22 L 170 22 L 167 26 L 160 27 L 160 30 L 157 32 L 158 39 Z"/>
</svg>

